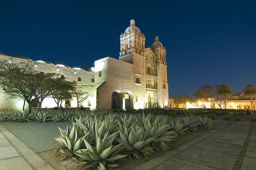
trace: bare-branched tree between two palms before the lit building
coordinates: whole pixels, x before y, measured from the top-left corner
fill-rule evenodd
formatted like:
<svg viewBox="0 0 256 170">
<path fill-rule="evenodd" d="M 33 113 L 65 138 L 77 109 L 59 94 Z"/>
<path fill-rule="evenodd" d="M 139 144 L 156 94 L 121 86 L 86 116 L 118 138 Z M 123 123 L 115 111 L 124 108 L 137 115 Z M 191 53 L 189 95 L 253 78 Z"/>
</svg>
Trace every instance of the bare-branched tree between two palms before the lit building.
<svg viewBox="0 0 256 170">
<path fill-rule="evenodd" d="M 217 103 L 220 106 L 220 98 L 217 95 L 217 89 L 220 87 L 218 84 L 205 84 L 201 86 L 199 89 L 204 90 L 208 94 L 208 101 L 212 104 L 213 108 L 215 108 L 215 104 Z"/>
</svg>

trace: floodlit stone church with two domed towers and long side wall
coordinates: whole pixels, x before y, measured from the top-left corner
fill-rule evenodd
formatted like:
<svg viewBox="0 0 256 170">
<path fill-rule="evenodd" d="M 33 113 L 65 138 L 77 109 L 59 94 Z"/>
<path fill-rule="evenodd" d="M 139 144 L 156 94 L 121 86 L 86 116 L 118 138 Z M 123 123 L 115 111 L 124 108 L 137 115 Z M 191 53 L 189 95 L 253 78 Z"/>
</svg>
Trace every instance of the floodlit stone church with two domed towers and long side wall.
<svg viewBox="0 0 256 170">
<path fill-rule="evenodd" d="M 20 63 L 31 62 L 36 71 L 57 73 L 67 80 L 76 80 L 91 94 L 79 105 L 90 109 L 144 109 L 170 107 L 167 83 L 166 50 L 156 36 L 151 47 L 145 48 L 145 35 L 130 21 L 120 35 L 119 60 L 105 57 L 94 62 L 94 67 L 71 68 L 67 65 L 24 56 L 8 56 L 0 53 L 0 60 Z M 68 107 L 76 107 L 76 99 L 64 101 Z M 23 101 L 0 96 L 0 111 L 20 111 Z M 44 99 L 42 108 L 53 108 L 51 98 Z M 27 107 L 27 106 L 26 106 Z"/>
</svg>

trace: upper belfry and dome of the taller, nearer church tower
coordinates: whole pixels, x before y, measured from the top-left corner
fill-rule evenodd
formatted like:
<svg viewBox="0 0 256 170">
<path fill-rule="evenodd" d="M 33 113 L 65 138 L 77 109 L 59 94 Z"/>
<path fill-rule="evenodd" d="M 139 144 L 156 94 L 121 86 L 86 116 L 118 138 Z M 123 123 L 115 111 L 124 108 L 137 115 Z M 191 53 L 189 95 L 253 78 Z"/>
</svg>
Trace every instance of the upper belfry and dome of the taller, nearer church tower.
<svg viewBox="0 0 256 170">
<path fill-rule="evenodd" d="M 145 36 L 141 33 L 140 29 L 135 26 L 134 19 L 130 21 L 130 26 L 120 35 L 120 56 L 132 52 L 143 56 L 145 53 Z"/>
</svg>

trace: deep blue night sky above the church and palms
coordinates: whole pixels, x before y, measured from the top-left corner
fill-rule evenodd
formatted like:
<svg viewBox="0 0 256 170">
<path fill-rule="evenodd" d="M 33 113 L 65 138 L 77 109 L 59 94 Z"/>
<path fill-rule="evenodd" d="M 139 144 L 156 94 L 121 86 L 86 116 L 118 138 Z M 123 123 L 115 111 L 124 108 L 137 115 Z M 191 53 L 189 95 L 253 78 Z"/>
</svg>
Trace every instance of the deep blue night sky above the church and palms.
<svg viewBox="0 0 256 170">
<path fill-rule="evenodd" d="M 190 96 L 204 84 L 228 84 L 234 93 L 256 85 L 256 0 L 248 1 L 4 1 L 0 52 L 90 67 L 119 59 L 120 34 L 135 19 L 166 48 L 169 97 Z"/>
</svg>

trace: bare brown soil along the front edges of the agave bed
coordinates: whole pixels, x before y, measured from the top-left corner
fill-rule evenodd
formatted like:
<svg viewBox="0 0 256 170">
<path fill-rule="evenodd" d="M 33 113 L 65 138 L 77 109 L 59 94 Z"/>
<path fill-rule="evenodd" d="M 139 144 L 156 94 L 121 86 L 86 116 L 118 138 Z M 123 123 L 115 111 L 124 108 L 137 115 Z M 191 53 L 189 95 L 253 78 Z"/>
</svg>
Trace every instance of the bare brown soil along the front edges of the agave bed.
<svg viewBox="0 0 256 170">
<path fill-rule="evenodd" d="M 217 126 L 213 126 L 213 127 L 215 129 Z M 176 147 L 179 147 L 180 145 L 183 145 L 184 143 L 189 142 L 190 140 L 193 140 L 193 139 L 207 133 L 207 132 L 209 132 L 209 130 L 198 129 L 196 132 L 180 135 L 178 137 L 178 140 L 168 143 L 167 146 L 171 149 L 174 149 Z M 142 163 L 145 163 L 151 159 L 154 159 L 154 158 L 160 156 L 161 154 L 163 154 L 167 151 L 159 150 L 159 151 L 154 151 L 154 152 L 155 153 L 153 153 L 152 156 L 147 155 L 147 156 L 142 157 L 141 159 L 123 158 L 123 159 L 117 160 L 116 163 L 119 164 L 119 167 L 112 168 L 112 169 L 113 170 L 130 170 L 130 169 L 133 169 L 133 168 L 139 166 Z M 53 168 L 55 168 L 56 170 L 70 170 L 70 169 L 81 170 L 81 167 L 82 167 L 82 166 L 76 164 L 76 162 L 78 160 L 82 160 L 82 159 L 75 160 L 75 158 L 71 158 L 71 157 L 67 157 L 66 159 L 64 159 L 65 155 L 58 152 L 56 149 L 45 151 L 45 152 L 39 152 L 37 154 L 42 159 L 44 159 L 48 164 L 50 164 Z"/>
</svg>

